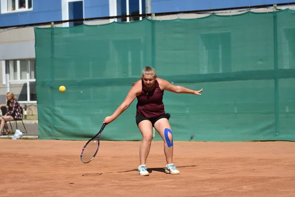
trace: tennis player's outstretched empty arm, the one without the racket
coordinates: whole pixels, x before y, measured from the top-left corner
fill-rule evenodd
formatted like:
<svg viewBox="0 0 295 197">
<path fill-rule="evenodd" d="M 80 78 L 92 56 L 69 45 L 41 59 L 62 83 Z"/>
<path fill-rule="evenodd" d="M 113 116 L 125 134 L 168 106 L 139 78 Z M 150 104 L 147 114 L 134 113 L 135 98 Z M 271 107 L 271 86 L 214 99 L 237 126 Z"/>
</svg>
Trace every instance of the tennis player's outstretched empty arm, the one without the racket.
<svg viewBox="0 0 295 197">
<path fill-rule="evenodd" d="M 191 90 L 188 88 L 185 88 L 183 86 L 176 86 L 171 84 L 169 81 L 164 80 L 164 79 L 158 79 L 159 83 L 162 86 L 162 89 L 177 93 L 177 94 L 193 94 L 193 95 L 201 95 L 200 93 L 203 92 L 203 89 L 201 90 Z"/>
</svg>

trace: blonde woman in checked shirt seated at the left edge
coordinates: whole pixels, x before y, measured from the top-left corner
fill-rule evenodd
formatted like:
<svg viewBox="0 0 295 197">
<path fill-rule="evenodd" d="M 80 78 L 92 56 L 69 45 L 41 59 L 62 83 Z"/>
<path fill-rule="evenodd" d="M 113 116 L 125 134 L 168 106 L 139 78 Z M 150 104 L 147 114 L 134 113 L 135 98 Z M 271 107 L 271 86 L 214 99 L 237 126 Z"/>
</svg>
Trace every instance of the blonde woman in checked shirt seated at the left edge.
<svg viewBox="0 0 295 197">
<path fill-rule="evenodd" d="M 10 131 L 7 128 L 5 122 L 12 121 L 15 119 L 20 119 L 22 117 L 22 114 L 21 114 L 21 105 L 17 101 L 16 97 L 14 96 L 12 92 L 8 92 L 6 94 L 6 99 L 7 99 L 7 112 L 5 115 L 0 117 L 0 122 L 1 122 L 0 131 L 2 131 L 3 128 L 5 128 L 6 130 L 5 134 L 7 135 L 10 133 Z"/>
</svg>

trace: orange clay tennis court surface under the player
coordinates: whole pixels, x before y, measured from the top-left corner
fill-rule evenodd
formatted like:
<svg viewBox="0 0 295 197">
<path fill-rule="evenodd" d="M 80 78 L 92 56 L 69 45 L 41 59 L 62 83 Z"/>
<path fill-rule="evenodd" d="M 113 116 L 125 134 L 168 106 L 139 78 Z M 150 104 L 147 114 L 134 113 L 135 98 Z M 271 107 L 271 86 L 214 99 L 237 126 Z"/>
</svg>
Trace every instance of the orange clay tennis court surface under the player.
<svg viewBox="0 0 295 197">
<path fill-rule="evenodd" d="M 139 176 L 140 142 L 101 141 L 89 164 L 85 141 L 0 139 L 1 197 L 294 197 L 294 142 L 174 142 L 179 175 L 165 174 L 152 142 Z"/>
</svg>

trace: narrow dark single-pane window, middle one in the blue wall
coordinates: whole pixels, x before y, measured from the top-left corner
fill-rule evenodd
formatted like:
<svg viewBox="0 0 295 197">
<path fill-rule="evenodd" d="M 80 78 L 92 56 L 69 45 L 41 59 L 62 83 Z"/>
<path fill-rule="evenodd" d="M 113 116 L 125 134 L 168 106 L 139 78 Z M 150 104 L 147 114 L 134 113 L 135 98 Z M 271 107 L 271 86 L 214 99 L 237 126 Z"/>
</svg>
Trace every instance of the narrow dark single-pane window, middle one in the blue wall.
<svg viewBox="0 0 295 197">
<path fill-rule="evenodd" d="M 83 19 L 83 1 L 69 2 L 69 20 Z M 70 22 L 69 27 L 82 25 L 83 21 Z"/>
</svg>

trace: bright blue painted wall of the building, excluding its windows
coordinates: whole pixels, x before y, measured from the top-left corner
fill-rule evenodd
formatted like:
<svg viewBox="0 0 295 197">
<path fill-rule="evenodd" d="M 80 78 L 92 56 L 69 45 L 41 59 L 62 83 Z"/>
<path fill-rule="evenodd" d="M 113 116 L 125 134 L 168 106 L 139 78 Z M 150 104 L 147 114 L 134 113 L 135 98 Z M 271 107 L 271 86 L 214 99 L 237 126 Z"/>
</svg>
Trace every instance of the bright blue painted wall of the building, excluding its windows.
<svg viewBox="0 0 295 197">
<path fill-rule="evenodd" d="M 152 0 L 152 12 L 217 9 L 288 1 L 290 0 Z M 0 27 L 60 21 L 61 13 L 61 0 L 33 0 L 32 11 L 0 14 Z M 109 0 L 84 0 L 84 16 L 85 18 L 109 16 Z"/>
</svg>

